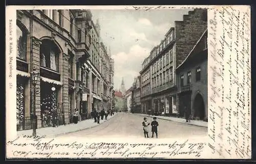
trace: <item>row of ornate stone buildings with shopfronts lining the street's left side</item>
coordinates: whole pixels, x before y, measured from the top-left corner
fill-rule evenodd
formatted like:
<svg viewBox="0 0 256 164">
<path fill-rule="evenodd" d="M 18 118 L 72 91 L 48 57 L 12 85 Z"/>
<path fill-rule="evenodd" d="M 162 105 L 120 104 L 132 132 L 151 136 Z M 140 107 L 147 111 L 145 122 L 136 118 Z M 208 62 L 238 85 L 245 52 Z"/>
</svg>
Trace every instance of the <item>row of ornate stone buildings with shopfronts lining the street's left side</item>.
<svg viewBox="0 0 256 164">
<path fill-rule="evenodd" d="M 98 25 L 91 18 L 90 10 L 17 10 L 17 130 L 32 128 L 33 104 L 41 128 L 52 125 L 53 115 L 59 125 L 71 123 L 75 108 L 80 120 L 87 119 L 93 97 L 112 102 L 111 57 L 102 44 L 95 45 L 100 37 L 93 38 Z M 92 60 L 95 49 L 101 63 Z M 35 93 L 32 72 L 39 75 Z"/>
</svg>

